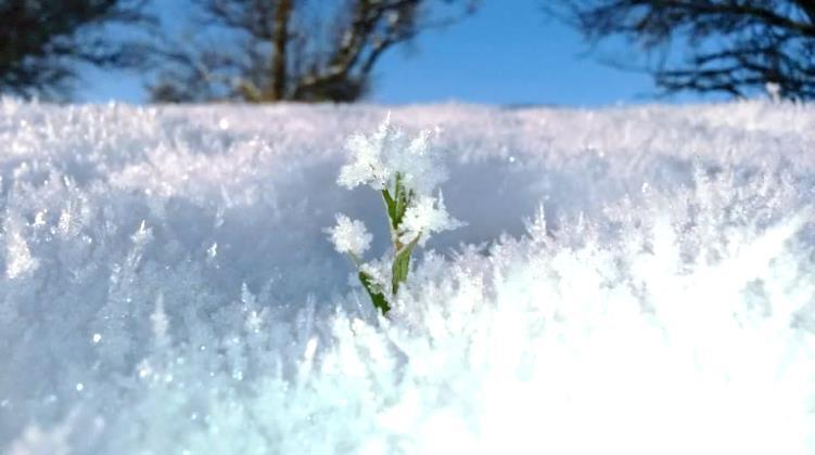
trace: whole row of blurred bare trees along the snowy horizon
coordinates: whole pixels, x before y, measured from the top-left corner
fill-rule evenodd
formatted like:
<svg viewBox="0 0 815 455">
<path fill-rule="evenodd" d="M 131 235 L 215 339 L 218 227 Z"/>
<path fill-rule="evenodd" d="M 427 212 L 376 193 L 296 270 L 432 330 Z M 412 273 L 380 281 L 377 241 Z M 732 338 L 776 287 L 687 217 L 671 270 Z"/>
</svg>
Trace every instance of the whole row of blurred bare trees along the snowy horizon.
<svg viewBox="0 0 815 455">
<path fill-rule="evenodd" d="M 92 66 L 144 75 L 154 102 L 351 102 L 383 54 L 480 1 L 0 0 L 0 93 L 71 100 Z M 593 46 L 622 38 L 635 57 L 607 63 L 664 93 L 815 99 L 815 0 L 539 4 Z"/>
</svg>

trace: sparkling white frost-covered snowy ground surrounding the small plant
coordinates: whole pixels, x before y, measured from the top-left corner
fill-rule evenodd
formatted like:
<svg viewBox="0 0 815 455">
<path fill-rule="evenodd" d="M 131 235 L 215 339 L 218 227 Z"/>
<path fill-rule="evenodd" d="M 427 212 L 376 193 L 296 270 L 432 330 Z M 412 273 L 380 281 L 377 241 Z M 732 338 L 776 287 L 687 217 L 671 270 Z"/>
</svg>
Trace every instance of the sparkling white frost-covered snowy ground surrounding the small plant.
<svg viewBox="0 0 815 455">
<path fill-rule="evenodd" d="M 0 453 L 815 453 L 815 107 L 394 108 L 468 226 L 389 321 L 386 112 L 0 101 Z"/>
</svg>

